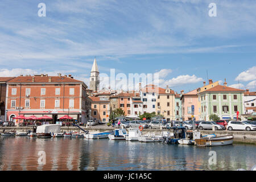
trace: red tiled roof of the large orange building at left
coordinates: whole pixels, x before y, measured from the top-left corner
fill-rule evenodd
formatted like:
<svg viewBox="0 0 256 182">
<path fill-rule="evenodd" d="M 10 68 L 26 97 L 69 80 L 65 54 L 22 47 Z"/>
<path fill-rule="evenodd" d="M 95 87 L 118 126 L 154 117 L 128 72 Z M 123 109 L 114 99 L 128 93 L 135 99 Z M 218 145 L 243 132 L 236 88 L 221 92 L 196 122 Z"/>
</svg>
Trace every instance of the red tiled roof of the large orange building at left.
<svg viewBox="0 0 256 182">
<path fill-rule="evenodd" d="M 34 82 L 49 82 L 49 78 L 51 78 L 51 82 L 83 82 L 65 76 L 18 76 L 8 81 L 8 83 L 32 83 L 33 77 Z"/>
</svg>

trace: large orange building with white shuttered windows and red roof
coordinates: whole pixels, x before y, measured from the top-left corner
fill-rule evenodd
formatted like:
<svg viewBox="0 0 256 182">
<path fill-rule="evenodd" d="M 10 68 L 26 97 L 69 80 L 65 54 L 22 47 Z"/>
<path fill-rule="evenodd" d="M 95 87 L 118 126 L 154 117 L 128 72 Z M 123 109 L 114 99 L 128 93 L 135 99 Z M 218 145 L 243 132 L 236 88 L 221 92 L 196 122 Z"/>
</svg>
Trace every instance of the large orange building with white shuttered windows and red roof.
<svg viewBox="0 0 256 182">
<path fill-rule="evenodd" d="M 85 123 L 90 108 L 86 88 L 84 82 L 71 75 L 20 75 L 7 82 L 6 119 L 12 121 L 18 115 L 48 115 L 56 123 L 60 117 L 69 114 Z"/>
</svg>

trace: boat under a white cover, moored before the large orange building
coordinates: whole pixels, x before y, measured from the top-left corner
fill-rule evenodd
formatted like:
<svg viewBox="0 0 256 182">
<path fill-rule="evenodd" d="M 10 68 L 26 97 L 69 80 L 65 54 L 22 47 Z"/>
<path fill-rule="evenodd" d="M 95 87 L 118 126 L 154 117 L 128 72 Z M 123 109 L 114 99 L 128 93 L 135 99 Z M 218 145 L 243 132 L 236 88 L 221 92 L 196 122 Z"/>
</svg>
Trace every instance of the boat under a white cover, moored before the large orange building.
<svg viewBox="0 0 256 182">
<path fill-rule="evenodd" d="M 55 133 L 60 133 L 59 124 L 41 125 L 36 129 L 36 137 L 38 138 L 51 138 L 52 134 Z"/>
</svg>

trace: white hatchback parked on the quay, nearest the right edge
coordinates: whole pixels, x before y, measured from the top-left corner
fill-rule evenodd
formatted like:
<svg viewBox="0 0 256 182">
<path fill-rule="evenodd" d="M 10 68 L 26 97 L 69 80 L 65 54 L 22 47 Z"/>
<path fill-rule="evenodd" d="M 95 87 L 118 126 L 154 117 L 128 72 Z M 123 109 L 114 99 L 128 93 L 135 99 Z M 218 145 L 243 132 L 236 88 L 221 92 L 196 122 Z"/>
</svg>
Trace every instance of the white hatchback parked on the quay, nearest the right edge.
<svg viewBox="0 0 256 182">
<path fill-rule="evenodd" d="M 251 125 L 247 123 L 246 121 L 229 121 L 228 130 L 256 130 L 256 125 Z"/>
</svg>

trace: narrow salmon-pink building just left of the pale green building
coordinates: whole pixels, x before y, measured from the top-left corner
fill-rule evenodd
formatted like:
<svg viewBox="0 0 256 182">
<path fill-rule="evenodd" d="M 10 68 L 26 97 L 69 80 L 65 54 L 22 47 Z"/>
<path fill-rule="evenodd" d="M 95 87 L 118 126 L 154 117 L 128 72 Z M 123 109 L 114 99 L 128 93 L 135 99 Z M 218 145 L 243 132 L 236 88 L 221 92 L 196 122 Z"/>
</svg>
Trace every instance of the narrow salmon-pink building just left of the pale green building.
<svg viewBox="0 0 256 182">
<path fill-rule="evenodd" d="M 199 107 L 199 100 L 197 96 L 197 89 L 192 90 L 191 92 L 185 93 L 184 90 L 181 91 L 182 96 L 180 98 L 181 105 L 182 105 L 182 115 L 183 121 L 191 120 L 192 119 L 192 109 L 191 106 L 194 105 L 195 111 L 194 111 L 194 117 L 196 118 L 196 121 L 200 120 L 200 107 Z"/>
</svg>

